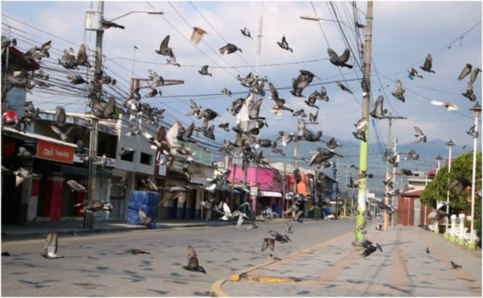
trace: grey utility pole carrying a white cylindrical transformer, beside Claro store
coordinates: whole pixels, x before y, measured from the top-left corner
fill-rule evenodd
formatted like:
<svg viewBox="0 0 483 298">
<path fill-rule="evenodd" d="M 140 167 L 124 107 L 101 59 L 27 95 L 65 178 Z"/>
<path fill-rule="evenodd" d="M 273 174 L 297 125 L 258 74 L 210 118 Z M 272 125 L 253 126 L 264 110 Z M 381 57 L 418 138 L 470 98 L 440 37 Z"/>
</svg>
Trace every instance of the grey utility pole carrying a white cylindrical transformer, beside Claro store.
<svg viewBox="0 0 483 298">
<path fill-rule="evenodd" d="M 98 10 L 101 12 L 102 18 L 104 18 L 104 1 L 98 2 Z M 93 94 L 90 102 L 91 114 L 94 114 L 94 106 L 98 103 L 98 100 L 102 97 L 102 37 L 104 30 L 96 30 L 95 35 L 95 58 L 94 58 L 94 82 L 93 82 Z M 89 170 L 88 170 L 88 192 L 87 201 L 92 201 L 95 198 L 95 159 L 97 158 L 97 143 L 98 143 L 98 126 L 99 121 L 96 118 L 92 118 L 92 131 L 90 132 L 89 142 Z M 84 229 L 94 228 L 94 215 L 92 212 L 84 213 Z"/>
</svg>

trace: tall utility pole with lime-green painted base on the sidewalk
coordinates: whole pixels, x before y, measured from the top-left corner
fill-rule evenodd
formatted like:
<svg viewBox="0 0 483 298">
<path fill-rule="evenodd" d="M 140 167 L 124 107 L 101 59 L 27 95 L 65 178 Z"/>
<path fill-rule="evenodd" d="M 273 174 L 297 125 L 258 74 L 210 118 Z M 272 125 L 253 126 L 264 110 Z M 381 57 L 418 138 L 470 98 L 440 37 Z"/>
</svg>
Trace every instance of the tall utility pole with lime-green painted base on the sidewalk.
<svg viewBox="0 0 483 298">
<path fill-rule="evenodd" d="M 359 152 L 359 173 L 368 170 L 368 142 L 369 142 L 369 99 L 371 95 L 371 52 L 372 52 L 372 8 L 373 2 L 368 1 L 368 9 L 365 16 L 365 46 L 364 46 L 364 73 L 362 78 L 362 118 L 365 118 L 365 142 L 360 141 Z M 359 215 L 356 216 L 356 239 L 353 243 L 354 246 L 362 246 L 362 241 L 365 239 L 365 234 L 357 231 L 357 227 L 361 226 L 364 219 L 365 211 L 365 199 L 367 193 L 367 181 L 365 177 L 359 180 L 358 189 L 358 211 Z"/>
</svg>

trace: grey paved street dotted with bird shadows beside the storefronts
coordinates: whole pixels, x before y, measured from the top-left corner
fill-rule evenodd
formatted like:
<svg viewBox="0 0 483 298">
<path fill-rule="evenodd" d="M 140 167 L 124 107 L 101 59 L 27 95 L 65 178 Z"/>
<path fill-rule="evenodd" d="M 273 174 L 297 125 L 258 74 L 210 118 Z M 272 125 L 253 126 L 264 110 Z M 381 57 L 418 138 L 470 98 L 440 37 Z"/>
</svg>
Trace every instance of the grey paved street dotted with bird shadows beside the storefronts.
<svg viewBox="0 0 483 298">
<path fill-rule="evenodd" d="M 61 237 L 61 259 L 40 255 L 45 240 L 2 243 L 2 295 L 7 296 L 193 296 L 208 295 L 217 280 L 266 263 L 269 251 L 260 252 L 269 230 L 284 232 L 285 223 L 245 226 L 143 230 L 91 236 Z M 275 245 L 275 255 L 306 249 L 349 233 L 350 219 L 304 221 L 294 224 L 291 243 Z M 183 270 L 187 246 L 195 247 L 207 274 Z M 139 248 L 150 255 L 127 255 Z"/>
</svg>

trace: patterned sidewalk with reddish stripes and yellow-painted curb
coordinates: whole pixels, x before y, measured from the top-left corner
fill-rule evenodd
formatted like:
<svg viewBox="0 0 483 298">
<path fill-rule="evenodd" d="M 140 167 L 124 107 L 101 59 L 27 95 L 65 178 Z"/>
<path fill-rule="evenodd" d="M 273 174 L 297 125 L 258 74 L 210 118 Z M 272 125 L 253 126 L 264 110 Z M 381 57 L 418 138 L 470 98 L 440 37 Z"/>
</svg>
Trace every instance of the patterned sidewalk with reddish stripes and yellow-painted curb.
<svg viewBox="0 0 483 298">
<path fill-rule="evenodd" d="M 304 252 L 281 257 L 221 284 L 229 296 L 481 296 L 481 250 L 469 251 L 419 228 L 368 232 L 379 243 L 362 258 L 344 235 Z M 430 254 L 426 253 L 426 247 Z M 278 250 L 280 251 L 280 250 Z M 268 254 L 269 252 L 265 251 Z M 462 266 L 452 269 L 451 260 Z M 232 276 L 231 280 L 237 280 Z M 215 287 L 216 288 L 216 287 Z"/>
</svg>

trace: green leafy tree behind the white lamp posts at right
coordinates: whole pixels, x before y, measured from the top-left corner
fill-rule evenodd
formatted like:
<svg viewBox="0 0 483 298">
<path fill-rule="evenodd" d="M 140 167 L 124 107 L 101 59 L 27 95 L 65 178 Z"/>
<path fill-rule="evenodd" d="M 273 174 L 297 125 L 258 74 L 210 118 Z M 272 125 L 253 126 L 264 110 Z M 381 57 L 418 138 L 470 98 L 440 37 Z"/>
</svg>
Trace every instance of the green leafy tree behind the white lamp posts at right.
<svg viewBox="0 0 483 298">
<path fill-rule="evenodd" d="M 464 177 L 471 181 L 473 170 L 473 152 L 462 154 L 451 162 L 451 173 L 445 166 L 438 171 L 438 175 L 429 183 L 421 193 L 421 202 L 428 207 L 436 208 L 436 201 L 446 201 L 448 181 L 451 183 L 458 177 Z M 476 193 L 475 193 L 475 229 L 481 239 L 481 197 L 478 195 L 481 190 L 481 152 L 476 154 Z M 459 196 L 456 191 L 450 191 L 450 202 L 452 213 L 465 213 L 471 215 L 471 189 L 465 189 Z M 470 222 L 467 222 L 468 227 Z"/>
</svg>

